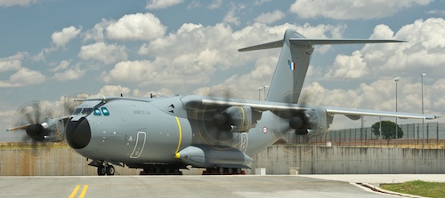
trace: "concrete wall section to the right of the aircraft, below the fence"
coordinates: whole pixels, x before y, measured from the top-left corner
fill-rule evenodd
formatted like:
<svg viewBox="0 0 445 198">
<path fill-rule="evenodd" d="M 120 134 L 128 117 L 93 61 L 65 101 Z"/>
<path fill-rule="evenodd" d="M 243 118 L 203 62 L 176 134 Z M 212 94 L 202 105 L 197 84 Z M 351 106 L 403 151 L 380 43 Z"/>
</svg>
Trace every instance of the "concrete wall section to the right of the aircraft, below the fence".
<svg viewBox="0 0 445 198">
<path fill-rule="evenodd" d="M 255 156 L 267 174 L 430 174 L 445 173 L 444 149 L 272 146 Z"/>
</svg>

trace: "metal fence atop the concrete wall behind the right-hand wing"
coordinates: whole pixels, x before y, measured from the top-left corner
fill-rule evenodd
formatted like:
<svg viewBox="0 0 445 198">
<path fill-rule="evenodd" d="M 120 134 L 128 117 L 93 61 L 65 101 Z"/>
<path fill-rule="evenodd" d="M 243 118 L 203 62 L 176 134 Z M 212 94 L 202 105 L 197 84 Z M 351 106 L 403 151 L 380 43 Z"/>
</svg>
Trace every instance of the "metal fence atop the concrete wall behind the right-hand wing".
<svg viewBox="0 0 445 198">
<path fill-rule="evenodd" d="M 371 127 L 366 127 L 327 131 L 312 138 L 288 134 L 286 142 L 339 147 L 445 148 L 445 123 L 409 123 L 399 126 L 403 131 L 400 139 L 382 139 L 371 131 Z"/>
</svg>

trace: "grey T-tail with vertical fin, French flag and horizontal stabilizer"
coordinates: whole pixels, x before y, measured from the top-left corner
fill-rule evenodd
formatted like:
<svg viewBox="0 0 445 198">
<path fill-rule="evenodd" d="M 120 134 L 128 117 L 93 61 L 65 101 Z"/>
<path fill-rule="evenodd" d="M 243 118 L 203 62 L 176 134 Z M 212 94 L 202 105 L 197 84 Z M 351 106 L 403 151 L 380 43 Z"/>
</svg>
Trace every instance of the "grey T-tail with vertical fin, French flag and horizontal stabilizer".
<svg viewBox="0 0 445 198">
<path fill-rule="evenodd" d="M 319 44 L 373 44 L 403 42 L 399 40 L 369 39 L 308 39 L 294 29 L 287 29 L 284 38 L 266 44 L 239 49 L 255 51 L 281 47 L 279 61 L 272 77 L 267 101 L 297 103 L 313 52 L 312 45 Z"/>
</svg>

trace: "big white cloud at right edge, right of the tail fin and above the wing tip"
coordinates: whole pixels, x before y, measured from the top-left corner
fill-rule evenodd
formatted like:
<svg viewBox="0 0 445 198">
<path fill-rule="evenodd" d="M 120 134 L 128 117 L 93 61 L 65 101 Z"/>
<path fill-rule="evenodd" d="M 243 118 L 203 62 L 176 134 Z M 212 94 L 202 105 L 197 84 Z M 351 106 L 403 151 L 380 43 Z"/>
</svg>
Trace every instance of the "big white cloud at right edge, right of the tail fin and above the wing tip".
<svg viewBox="0 0 445 198">
<path fill-rule="evenodd" d="M 397 44 L 367 44 L 352 55 L 337 55 L 327 77 L 360 78 L 389 74 L 428 73 L 432 69 L 445 72 L 445 20 L 431 18 L 393 32 L 385 25 L 374 29 L 372 39 L 399 39 Z M 431 72 L 430 72 L 431 73 Z M 438 72 L 433 72 L 439 76 Z"/>
</svg>

